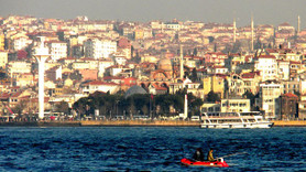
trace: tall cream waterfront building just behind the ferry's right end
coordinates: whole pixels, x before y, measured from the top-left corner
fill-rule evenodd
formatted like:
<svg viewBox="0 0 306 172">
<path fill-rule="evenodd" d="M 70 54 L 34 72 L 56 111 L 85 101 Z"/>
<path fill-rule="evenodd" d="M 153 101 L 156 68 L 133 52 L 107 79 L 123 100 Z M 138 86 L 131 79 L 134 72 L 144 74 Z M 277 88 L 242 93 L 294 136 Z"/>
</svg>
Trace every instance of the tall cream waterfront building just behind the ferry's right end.
<svg viewBox="0 0 306 172">
<path fill-rule="evenodd" d="M 277 83 L 260 84 L 259 103 L 265 111 L 265 118 L 276 118 L 281 112 L 280 96 L 283 94 L 283 85 Z"/>
</svg>

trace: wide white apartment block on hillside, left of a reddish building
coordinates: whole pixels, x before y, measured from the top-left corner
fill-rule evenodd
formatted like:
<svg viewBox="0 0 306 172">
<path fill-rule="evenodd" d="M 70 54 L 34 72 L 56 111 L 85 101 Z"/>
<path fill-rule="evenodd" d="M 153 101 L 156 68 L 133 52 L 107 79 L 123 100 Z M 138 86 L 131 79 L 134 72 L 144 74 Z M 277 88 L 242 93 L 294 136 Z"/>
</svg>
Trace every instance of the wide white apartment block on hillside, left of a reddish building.
<svg viewBox="0 0 306 172">
<path fill-rule="evenodd" d="M 117 52 L 117 42 L 110 40 L 89 39 L 84 43 L 85 56 L 101 58 Z"/>
</svg>

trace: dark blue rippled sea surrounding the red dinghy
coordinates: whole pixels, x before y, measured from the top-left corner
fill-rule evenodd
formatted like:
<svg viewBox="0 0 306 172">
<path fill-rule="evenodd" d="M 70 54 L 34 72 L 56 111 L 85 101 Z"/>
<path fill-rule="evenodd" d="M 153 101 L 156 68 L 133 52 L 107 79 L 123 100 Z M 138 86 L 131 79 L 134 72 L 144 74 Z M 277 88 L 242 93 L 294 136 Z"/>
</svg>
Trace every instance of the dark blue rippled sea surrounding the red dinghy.
<svg viewBox="0 0 306 172">
<path fill-rule="evenodd" d="M 182 165 L 196 148 L 237 154 Z M 0 171 L 306 171 L 306 128 L 0 128 Z"/>
</svg>

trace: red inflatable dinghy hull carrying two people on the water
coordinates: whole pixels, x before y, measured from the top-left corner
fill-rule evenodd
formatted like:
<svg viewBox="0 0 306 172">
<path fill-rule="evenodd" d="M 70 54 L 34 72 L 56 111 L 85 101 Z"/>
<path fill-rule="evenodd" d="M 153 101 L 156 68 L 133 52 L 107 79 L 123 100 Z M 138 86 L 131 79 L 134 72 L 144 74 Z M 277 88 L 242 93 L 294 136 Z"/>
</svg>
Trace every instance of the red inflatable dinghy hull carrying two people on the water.
<svg viewBox="0 0 306 172">
<path fill-rule="evenodd" d="M 189 159 L 182 159 L 181 163 L 187 166 L 211 166 L 211 168 L 228 168 L 229 165 L 227 164 L 226 161 L 193 161 Z"/>
</svg>

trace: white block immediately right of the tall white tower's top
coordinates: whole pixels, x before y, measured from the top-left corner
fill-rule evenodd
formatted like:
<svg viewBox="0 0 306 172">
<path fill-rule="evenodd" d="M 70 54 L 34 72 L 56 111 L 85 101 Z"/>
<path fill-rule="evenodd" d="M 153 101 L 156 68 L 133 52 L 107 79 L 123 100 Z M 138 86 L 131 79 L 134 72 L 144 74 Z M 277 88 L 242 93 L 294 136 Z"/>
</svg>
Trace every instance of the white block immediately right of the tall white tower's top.
<svg viewBox="0 0 306 172">
<path fill-rule="evenodd" d="M 47 42 L 52 61 L 56 62 L 59 58 L 67 57 L 67 43 L 62 41 Z"/>
</svg>

